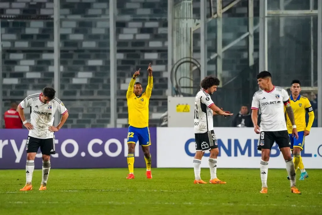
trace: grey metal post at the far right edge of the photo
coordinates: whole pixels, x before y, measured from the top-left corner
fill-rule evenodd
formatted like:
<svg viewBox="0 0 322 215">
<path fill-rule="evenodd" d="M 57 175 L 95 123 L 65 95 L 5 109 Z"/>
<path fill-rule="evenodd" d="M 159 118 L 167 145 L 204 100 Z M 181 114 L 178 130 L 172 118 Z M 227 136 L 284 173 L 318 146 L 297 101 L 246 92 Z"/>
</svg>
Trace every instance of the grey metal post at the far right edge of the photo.
<svg viewBox="0 0 322 215">
<path fill-rule="evenodd" d="M 317 125 L 322 127 L 322 1 L 317 1 Z"/>
</svg>

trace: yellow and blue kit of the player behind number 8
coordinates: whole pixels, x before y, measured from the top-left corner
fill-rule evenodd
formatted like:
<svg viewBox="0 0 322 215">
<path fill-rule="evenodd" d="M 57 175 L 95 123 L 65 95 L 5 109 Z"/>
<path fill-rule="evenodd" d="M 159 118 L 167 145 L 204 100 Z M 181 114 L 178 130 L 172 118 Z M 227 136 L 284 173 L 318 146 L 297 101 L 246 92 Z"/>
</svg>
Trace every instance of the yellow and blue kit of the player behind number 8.
<svg viewBox="0 0 322 215">
<path fill-rule="evenodd" d="M 291 103 L 291 107 L 294 112 L 295 125 L 296 125 L 297 131 L 298 131 L 298 139 L 296 139 L 295 136 L 292 137 L 292 130 L 293 130 L 292 123 L 289 120 L 288 114 L 285 114 L 286 115 L 287 130 L 288 130 L 289 139 L 291 142 L 291 150 L 293 150 L 294 147 L 298 147 L 302 151 L 304 148 L 304 142 L 305 142 L 304 131 L 305 130 L 310 131 L 313 121 L 314 121 L 314 111 L 313 111 L 310 101 L 308 100 L 308 98 L 306 98 L 304 96 L 298 95 L 297 99 L 294 100 L 293 96 L 290 95 L 290 103 Z M 285 109 L 284 109 L 284 111 L 285 111 Z M 308 115 L 309 115 L 308 125 L 306 124 L 306 120 L 305 120 L 306 112 L 308 112 Z M 308 174 L 304 169 L 302 157 L 300 154 L 294 154 L 293 157 L 294 157 L 293 162 L 294 162 L 295 170 L 300 168 L 300 170 L 302 172 L 300 180 L 304 180 L 304 178 L 308 177 Z"/>
</svg>

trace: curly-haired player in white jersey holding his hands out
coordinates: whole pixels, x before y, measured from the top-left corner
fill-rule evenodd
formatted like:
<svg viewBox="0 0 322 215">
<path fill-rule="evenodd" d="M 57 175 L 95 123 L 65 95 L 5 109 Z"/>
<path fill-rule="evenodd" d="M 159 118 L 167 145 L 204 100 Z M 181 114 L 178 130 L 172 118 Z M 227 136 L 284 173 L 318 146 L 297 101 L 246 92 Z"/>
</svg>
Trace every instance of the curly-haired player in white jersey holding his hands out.
<svg viewBox="0 0 322 215">
<path fill-rule="evenodd" d="M 219 154 L 217 138 L 213 131 L 213 115 L 232 116 L 233 113 L 223 111 L 218 108 L 211 99 L 220 81 L 216 77 L 206 76 L 201 81 L 200 90 L 194 99 L 194 138 L 196 154 L 194 156 L 194 183 L 206 184 L 200 178 L 201 159 L 205 151 L 210 150 L 209 167 L 210 167 L 210 181 L 212 184 L 225 184 L 217 178 L 217 156 Z"/>
</svg>

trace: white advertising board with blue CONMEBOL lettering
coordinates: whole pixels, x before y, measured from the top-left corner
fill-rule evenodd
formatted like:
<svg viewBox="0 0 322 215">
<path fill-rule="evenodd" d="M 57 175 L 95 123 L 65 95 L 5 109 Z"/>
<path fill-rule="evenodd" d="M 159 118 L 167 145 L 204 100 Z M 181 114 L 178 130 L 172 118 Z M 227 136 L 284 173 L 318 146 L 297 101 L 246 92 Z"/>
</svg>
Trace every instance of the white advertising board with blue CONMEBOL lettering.
<svg viewBox="0 0 322 215">
<path fill-rule="evenodd" d="M 219 168 L 259 168 L 261 152 L 257 150 L 259 134 L 253 128 L 214 128 L 219 147 Z M 322 169 L 322 128 L 312 128 L 305 137 L 301 152 L 306 169 Z M 194 128 L 157 128 L 157 167 L 192 168 L 195 155 Z M 208 166 L 209 151 L 201 167 Z M 285 162 L 274 143 L 269 168 L 284 169 Z"/>
</svg>

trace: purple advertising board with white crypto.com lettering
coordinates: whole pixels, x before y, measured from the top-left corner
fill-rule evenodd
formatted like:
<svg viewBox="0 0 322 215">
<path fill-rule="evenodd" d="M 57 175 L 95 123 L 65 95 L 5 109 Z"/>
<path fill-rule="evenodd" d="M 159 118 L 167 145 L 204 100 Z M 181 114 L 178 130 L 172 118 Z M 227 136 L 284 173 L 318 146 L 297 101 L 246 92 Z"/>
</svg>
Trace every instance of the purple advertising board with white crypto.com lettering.
<svg viewBox="0 0 322 215">
<path fill-rule="evenodd" d="M 52 168 L 128 167 L 127 128 L 62 129 L 55 132 Z M 152 167 L 156 167 L 156 128 L 150 128 Z M 27 129 L 0 129 L 0 169 L 25 169 Z M 35 168 L 42 168 L 40 149 Z M 141 146 L 135 148 L 134 167 L 146 167 Z"/>
</svg>

